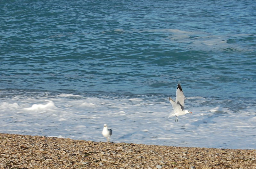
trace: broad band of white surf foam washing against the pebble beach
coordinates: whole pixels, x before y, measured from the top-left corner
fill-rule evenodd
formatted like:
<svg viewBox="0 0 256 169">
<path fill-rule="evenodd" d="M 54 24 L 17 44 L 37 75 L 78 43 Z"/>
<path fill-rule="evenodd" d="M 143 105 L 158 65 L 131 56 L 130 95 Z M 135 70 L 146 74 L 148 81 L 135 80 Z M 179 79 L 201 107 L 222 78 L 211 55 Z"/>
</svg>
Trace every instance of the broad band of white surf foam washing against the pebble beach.
<svg viewBox="0 0 256 169">
<path fill-rule="evenodd" d="M 186 109 L 193 114 L 180 116 L 177 123 L 175 117 L 168 118 L 172 111 L 168 97 L 74 96 L 5 98 L 0 104 L 0 132 L 105 141 L 101 130 L 107 123 L 114 142 L 256 148 L 256 113 L 252 107 L 234 111 L 222 104 L 227 101 L 188 97 Z"/>
</svg>

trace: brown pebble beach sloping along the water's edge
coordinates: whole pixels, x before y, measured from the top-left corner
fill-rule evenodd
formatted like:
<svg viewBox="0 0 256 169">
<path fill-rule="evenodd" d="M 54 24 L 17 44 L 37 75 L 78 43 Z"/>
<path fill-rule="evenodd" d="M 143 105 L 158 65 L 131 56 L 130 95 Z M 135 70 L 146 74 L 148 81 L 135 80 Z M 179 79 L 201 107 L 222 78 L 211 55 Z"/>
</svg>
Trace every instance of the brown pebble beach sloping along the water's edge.
<svg viewBox="0 0 256 169">
<path fill-rule="evenodd" d="M 255 149 L 107 143 L 0 133 L 0 168 L 256 169 Z"/>
</svg>

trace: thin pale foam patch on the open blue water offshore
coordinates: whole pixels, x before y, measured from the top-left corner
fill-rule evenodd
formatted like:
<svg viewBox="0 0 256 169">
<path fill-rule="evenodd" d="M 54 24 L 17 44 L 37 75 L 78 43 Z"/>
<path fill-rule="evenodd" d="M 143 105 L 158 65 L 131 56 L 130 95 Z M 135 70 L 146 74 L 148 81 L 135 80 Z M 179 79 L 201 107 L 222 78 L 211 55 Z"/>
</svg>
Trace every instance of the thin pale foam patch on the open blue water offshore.
<svg viewBox="0 0 256 169">
<path fill-rule="evenodd" d="M 242 46 L 241 44 L 228 43 L 229 39 L 243 38 L 248 36 L 256 36 L 252 34 L 223 34 L 212 35 L 208 32 L 202 31 L 185 31 L 179 29 L 145 29 L 127 31 L 129 33 L 142 33 L 142 32 L 161 32 L 167 33 L 169 36 L 163 40 L 166 42 L 175 41 L 176 43 L 185 44 L 184 47 L 190 50 L 197 51 L 255 51 L 255 48 Z"/>
</svg>

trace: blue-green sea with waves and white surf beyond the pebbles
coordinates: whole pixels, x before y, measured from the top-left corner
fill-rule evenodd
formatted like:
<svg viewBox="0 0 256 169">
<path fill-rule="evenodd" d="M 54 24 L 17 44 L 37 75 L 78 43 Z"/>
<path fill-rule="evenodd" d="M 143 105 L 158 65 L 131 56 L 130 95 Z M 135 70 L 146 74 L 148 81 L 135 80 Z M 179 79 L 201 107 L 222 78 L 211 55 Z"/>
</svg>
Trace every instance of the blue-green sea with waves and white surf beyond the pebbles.
<svg viewBox="0 0 256 169">
<path fill-rule="evenodd" d="M 0 133 L 256 149 L 254 0 L 0 6 Z"/>
</svg>

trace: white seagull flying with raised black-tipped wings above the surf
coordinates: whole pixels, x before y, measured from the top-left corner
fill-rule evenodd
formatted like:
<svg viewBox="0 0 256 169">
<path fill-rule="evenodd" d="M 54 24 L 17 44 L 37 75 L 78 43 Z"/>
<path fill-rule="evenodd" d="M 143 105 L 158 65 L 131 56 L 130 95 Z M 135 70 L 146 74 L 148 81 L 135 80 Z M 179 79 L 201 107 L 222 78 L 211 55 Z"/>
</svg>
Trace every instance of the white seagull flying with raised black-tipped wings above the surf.
<svg viewBox="0 0 256 169">
<path fill-rule="evenodd" d="M 185 96 L 183 94 L 183 91 L 181 89 L 180 84 L 178 84 L 177 91 L 176 91 L 176 101 L 173 101 L 169 97 L 169 101 L 170 101 L 170 103 L 172 105 L 172 108 L 174 110 L 174 113 L 169 115 L 169 117 L 176 116 L 175 122 L 176 121 L 178 122 L 178 116 L 185 115 L 187 113 L 192 113 L 192 112 L 190 112 L 188 110 L 184 110 L 184 99 L 185 99 Z"/>
</svg>

